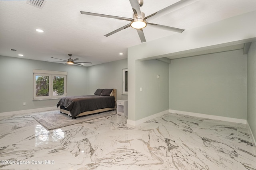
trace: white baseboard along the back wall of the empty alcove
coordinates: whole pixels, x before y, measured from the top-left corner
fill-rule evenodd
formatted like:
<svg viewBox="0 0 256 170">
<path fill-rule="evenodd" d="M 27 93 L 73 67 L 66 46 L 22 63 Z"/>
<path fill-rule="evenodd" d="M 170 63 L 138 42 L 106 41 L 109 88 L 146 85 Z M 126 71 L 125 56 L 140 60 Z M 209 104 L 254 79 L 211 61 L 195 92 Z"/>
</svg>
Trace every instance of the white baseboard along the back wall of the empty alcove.
<svg viewBox="0 0 256 170">
<path fill-rule="evenodd" d="M 195 117 L 203 117 L 203 118 L 208 118 L 208 119 L 215 119 L 215 120 L 221 120 L 221 121 L 229 121 L 229 122 L 234 122 L 234 123 L 242 123 L 246 124 L 247 120 L 246 119 L 236 119 L 236 118 L 231 118 L 231 117 L 223 117 L 223 116 L 216 116 L 216 115 L 206 115 L 206 114 L 201 114 L 201 113 L 193 113 L 193 112 L 188 112 L 188 111 L 179 111 L 179 110 L 169 110 L 170 113 L 177 113 L 181 115 L 189 115 L 189 116 L 195 116 Z"/>
</svg>

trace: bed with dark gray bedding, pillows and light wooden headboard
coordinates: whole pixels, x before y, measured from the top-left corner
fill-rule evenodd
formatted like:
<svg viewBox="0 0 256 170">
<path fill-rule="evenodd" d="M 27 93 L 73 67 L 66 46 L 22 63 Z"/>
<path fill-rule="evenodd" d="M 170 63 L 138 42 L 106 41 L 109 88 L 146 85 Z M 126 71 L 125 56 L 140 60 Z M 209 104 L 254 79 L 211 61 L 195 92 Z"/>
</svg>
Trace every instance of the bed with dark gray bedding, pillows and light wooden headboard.
<svg viewBox="0 0 256 170">
<path fill-rule="evenodd" d="M 60 113 L 72 119 L 116 109 L 116 89 L 97 89 L 94 95 L 63 97 L 57 104 Z"/>
</svg>

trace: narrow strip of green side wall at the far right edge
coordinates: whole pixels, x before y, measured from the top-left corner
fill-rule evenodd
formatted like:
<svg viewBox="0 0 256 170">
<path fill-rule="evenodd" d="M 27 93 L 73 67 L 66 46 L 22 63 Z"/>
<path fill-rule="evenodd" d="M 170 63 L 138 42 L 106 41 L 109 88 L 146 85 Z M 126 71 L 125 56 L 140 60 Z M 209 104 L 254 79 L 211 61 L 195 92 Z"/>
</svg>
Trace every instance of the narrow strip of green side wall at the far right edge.
<svg viewBox="0 0 256 170">
<path fill-rule="evenodd" d="M 247 54 L 247 121 L 256 138 L 256 42 Z"/>
</svg>

